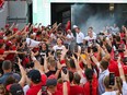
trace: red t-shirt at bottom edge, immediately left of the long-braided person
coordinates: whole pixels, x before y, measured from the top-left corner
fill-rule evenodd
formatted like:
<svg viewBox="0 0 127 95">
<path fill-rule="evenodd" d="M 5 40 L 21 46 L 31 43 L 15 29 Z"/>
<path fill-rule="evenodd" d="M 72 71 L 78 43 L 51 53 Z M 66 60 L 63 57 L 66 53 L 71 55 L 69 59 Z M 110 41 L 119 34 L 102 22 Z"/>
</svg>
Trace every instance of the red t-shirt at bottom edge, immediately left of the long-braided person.
<svg viewBox="0 0 127 95">
<path fill-rule="evenodd" d="M 69 95 L 84 95 L 83 87 L 79 85 L 70 86 L 70 94 Z"/>
</svg>

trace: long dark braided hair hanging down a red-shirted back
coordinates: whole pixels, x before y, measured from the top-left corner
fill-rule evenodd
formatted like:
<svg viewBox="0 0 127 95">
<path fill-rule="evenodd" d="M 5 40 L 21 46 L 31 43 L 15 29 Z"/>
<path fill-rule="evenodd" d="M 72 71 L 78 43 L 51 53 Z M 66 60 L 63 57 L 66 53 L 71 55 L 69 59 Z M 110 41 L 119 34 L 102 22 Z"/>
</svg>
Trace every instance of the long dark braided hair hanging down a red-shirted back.
<svg viewBox="0 0 127 95">
<path fill-rule="evenodd" d="M 85 70 L 86 80 L 90 82 L 90 95 L 92 95 L 92 80 L 93 80 L 93 70 L 86 69 Z"/>
</svg>

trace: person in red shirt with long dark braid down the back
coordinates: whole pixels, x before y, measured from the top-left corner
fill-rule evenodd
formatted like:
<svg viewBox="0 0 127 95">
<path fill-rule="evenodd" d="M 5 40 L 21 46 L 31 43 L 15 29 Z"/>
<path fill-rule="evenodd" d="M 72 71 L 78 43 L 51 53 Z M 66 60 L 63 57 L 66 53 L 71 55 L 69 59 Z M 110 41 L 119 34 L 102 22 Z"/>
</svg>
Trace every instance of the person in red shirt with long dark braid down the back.
<svg viewBox="0 0 127 95">
<path fill-rule="evenodd" d="M 85 70 L 85 76 L 88 82 L 84 84 L 84 95 L 97 95 L 97 79 L 94 75 L 94 72 L 92 69 Z"/>
</svg>

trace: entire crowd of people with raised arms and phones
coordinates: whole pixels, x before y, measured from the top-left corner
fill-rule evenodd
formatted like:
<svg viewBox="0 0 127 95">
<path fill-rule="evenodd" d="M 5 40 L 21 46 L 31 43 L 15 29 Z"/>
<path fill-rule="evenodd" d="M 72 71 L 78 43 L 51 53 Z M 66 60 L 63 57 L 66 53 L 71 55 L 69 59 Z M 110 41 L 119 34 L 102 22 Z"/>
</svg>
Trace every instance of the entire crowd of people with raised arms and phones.
<svg viewBox="0 0 127 95">
<path fill-rule="evenodd" d="M 0 95 L 127 95 L 127 27 L 84 36 L 70 22 L 0 31 Z M 74 35 L 76 34 L 76 35 Z"/>
</svg>

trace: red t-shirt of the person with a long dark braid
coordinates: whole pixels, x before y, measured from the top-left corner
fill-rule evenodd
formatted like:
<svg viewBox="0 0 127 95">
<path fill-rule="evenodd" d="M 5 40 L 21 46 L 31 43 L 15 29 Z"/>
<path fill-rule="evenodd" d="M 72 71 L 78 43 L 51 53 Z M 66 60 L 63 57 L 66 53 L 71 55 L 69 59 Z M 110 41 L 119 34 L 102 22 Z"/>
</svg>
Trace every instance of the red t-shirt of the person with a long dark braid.
<svg viewBox="0 0 127 95">
<path fill-rule="evenodd" d="M 90 82 L 86 82 L 83 86 L 84 95 L 90 95 L 90 92 L 92 92 L 92 95 L 97 95 L 97 86 L 99 86 L 97 79 L 93 76 L 92 91 L 90 91 Z"/>
</svg>

